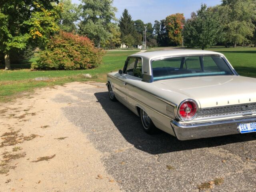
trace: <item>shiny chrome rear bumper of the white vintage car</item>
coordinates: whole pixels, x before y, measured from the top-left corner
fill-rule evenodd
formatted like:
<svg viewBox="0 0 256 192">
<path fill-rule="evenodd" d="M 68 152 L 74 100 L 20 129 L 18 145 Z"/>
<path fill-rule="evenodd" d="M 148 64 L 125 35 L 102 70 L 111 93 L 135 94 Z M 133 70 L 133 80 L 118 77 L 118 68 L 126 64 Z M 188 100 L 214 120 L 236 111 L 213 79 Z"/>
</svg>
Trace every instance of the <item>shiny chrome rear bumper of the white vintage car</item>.
<svg viewBox="0 0 256 192">
<path fill-rule="evenodd" d="M 171 126 L 178 140 L 191 140 L 207 137 L 238 134 L 238 125 L 241 123 L 256 122 L 256 117 L 214 121 L 206 123 L 182 124 L 171 121 Z"/>
</svg>

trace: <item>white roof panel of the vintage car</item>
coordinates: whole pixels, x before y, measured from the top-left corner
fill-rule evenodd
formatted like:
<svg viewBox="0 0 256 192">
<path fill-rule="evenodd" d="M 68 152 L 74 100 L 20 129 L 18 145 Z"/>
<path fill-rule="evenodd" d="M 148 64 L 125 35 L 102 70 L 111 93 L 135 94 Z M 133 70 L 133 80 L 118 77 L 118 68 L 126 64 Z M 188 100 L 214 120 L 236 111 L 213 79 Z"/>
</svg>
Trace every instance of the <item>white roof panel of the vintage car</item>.
<svg viewBox="0 0 256 192">
<path fill-rule="evenodd" d="M 161 57 L 172 57 L 172 56 L 189 56 L 189 55 L 223 55 L 214 51 L 205 51 L 205 50 L 168 50 L 168 51 L 149 51 L 143 53 L 136 53 L 130 56 L 143 57 L 148 60 L 161 58 Z"/>
</svg>

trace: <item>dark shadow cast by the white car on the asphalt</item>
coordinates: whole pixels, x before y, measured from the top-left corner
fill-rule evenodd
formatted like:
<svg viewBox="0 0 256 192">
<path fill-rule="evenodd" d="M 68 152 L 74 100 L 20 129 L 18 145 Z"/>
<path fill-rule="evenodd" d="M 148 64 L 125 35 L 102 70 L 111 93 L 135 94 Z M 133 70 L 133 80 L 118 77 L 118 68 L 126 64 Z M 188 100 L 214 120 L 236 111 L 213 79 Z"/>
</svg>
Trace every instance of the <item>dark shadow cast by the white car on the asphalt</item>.
<svg viewBox="0 0 256 192">
<path fill-rule="evenodd" d="M 187 141 L 180 141 L 163 131 L 149 135 L 143 131 L 140 118 L 120 102 L 110 101 L 108 92 L 98 92 L 94 95 L 122 136 L 137 149 L 150 154 L 216 147 L 256 140 L 256 134 L 236 134 Z"/>
</svg>

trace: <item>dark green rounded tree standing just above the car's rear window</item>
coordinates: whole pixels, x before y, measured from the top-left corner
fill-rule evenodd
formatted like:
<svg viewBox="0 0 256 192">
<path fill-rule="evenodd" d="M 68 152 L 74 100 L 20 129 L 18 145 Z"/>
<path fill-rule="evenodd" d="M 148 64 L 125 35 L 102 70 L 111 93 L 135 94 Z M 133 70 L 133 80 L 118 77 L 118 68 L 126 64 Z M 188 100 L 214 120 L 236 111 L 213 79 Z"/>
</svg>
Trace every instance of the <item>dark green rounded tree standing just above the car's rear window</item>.
<svg viewBox="0 0 256 192">
<path fill-rule="evenodd" d="M 220 18 L 213 8 L 202 4 L 201 8 L 191 14 L 184 27 L 184 40 L 190 47 L 202 50 L 215 45 L 222 32 Z"/>
</svg>

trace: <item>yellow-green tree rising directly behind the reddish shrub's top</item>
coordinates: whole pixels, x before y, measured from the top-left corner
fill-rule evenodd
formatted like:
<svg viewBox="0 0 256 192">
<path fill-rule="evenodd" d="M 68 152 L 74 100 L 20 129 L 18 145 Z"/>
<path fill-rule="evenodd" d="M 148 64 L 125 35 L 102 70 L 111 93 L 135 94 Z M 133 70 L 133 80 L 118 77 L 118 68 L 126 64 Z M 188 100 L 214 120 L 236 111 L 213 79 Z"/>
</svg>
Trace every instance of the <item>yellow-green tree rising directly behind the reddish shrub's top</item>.
<svg viewBox="0 0 256 192">
<path fill-rule="evenodd" d="M 72 4 L 71 0 L 60 0 L 63 4 L 63 12 L 61 14 L 60 29 L 66 32 L 74 32 L 76 24 L 81 14 L 81 6 Z"/>
</svg>

